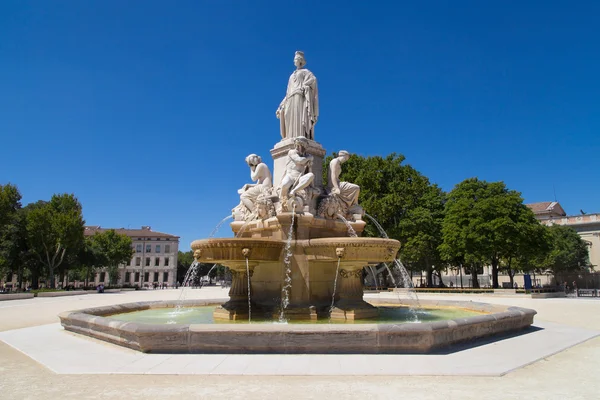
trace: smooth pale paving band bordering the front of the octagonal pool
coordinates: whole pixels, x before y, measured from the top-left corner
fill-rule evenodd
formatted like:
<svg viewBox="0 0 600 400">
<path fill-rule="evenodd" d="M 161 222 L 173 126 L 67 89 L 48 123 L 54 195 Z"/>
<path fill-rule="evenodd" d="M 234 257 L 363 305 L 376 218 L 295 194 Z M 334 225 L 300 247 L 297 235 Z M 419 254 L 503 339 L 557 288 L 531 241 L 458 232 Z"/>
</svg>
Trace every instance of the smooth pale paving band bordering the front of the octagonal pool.
<svg viewBox="0 0 600 400">
<path fill-rule="evenodd" d="M 429 355 L 144 354 L 66 332 L 60 324 L 0 332 L 0 340 L 57 374 L 262 376 L 502 376 L 599 331 L 539 321 L 530 331 Z"/>
</svg>

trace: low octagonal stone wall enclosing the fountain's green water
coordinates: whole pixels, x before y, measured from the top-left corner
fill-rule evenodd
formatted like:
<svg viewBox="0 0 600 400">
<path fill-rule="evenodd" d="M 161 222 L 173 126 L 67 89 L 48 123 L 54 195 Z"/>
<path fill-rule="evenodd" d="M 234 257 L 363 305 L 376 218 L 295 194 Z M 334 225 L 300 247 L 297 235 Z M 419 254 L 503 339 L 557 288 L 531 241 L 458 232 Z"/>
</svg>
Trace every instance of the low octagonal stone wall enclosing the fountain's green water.
<svg viewBox="0 0 600 400">
<path fill-rule="evenodd" d="M 188 300 L 186 306 L 217 305 Z M 397 300 L 373 301 L 377 304 Z M 426 323 L 381 324 L 181 324 L 124 322 L 110 315 L 175 307 L 176 301 L 128 303 L 64 312 L 64 329 L 144 353 L 393 354 L 429 353 L 460 342 L 529 327 L 536 314 L 520 307 L 470 301 L 421 300 L 425 308 L 459 307 L 487 314 Z M 403 302 L 407 304 L 407 302 Z M 474 344 L 477 344 L 476 342 Z"/>
</svg>

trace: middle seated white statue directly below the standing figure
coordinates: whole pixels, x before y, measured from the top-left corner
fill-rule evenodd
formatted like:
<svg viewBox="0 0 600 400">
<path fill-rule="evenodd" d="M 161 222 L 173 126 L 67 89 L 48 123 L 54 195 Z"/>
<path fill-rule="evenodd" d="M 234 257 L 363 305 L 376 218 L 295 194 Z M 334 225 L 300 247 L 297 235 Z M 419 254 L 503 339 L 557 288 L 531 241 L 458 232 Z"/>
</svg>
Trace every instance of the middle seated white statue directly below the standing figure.
<svg viewBox="0 0 600 400">
<path fill-rule="evenodd" d="M 294 149 L 288 152 L 285 174 L 279 186 L 279 198 L 284 210 L 287 210 L 288 200 L 291 198 L 292 202 L 298 201 L 294 197 L 308 188 L 315 179 L 312 172 L 313 156 L 306 152 L 307 147 L 308 139 L 298 136 L 294 139 Z"/>
</svg>

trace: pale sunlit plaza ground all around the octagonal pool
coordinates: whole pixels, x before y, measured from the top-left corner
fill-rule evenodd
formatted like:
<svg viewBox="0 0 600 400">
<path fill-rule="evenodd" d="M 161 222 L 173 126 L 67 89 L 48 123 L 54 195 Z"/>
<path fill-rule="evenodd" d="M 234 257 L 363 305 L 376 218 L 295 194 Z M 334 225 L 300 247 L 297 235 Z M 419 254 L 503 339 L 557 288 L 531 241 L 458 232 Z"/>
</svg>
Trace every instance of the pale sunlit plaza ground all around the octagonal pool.
<svg viewBox="0 0 600 400">
<path fill-rule="evenodd" d="M 423 295 L 533 308 L 533 329 L 433 355 L 142 354 L 62 329 L 58 313 L 179 290 L 0 302 L 4 398 L 598 398 L 600 301 Z M 205 287 L 186 298 L 225 299 Z M 390 297 L 374 294 L 367 297 Z M 5 397 L 6 396 L 6 397 Z"/>
</svg>

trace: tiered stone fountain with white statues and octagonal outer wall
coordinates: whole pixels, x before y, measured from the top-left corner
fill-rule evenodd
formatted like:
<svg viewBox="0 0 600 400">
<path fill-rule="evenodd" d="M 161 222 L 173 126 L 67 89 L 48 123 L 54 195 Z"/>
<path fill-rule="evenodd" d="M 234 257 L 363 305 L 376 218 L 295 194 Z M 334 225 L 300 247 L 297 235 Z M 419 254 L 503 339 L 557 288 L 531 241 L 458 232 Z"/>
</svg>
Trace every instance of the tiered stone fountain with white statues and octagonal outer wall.
<svg viewBox="0 0 600 400">
<path fill-rule="evenodd" d="M 254 183 L 238 190 L 240 203 L 232 210 L 230 224 L 234 237 L 191 244 L 197 262 L 231 270 L 229 300 L 135 303 L 63 313 L 65 329 L 146 352 L 395 353 L 430 351 L 529 326 L 533 310 L 470 302 L 421 302 L 425 308 L 471 310 L 462 319 L 377 323 L 389 307 L 413 305 L 399 304 L 400 299 L 363 298 L 363 268 L 395 262 L 400 242 L 361 236 L 366 222 L 358 204 L 360 187 L 339 179 L 350 153 L 338 152 L 323 184 L 325 150 L 314 140 L 319 115 L 316 78 L 303 68 L 301 52 L 294 62 L 297 70 L 277 110 L 281 140 L 271 150 L 273 175 L 260 156 L 246 157 Z M 116 315 L 181 303 L 213 306 L 211 317 L 217 323 L 154 325 L 120 321 Z M 304 323 L 255 323 L 265 316 Z M 322 321 L 329 323 L 318 323 Z"/>
</svg>

